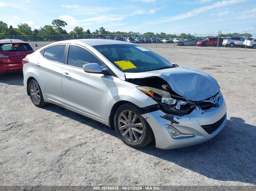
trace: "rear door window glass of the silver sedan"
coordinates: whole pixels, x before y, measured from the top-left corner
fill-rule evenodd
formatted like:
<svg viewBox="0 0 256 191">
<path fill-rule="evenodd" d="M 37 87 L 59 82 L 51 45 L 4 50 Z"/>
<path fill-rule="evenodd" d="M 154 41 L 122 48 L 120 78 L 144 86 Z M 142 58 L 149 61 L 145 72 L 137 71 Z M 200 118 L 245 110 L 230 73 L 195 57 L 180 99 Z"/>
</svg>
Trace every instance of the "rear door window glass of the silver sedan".
<svg viewBox="0 0 256 191">
<path fill-rule="evenodd" d="M 54 62 L 63 63 L 63 55 L 66 45 L 57 45 L 45 49 L 44 57 Z"/>
</svg>

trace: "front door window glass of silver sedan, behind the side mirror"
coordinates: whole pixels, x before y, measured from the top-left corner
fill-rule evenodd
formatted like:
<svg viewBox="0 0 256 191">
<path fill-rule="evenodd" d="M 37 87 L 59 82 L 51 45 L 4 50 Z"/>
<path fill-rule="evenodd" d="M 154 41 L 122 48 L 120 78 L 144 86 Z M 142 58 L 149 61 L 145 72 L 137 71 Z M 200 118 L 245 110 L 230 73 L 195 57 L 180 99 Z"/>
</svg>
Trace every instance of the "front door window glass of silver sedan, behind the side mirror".
<svg viewBox="0 0 256 191">
<path fill-rule="evenodd" d="M 70 45 L 68 50 L 68 65 L 83 68 L 83 65 L 97 63 L 102 67 L 102 62 L 88 50 L 79 46 Z"/>
</svg>

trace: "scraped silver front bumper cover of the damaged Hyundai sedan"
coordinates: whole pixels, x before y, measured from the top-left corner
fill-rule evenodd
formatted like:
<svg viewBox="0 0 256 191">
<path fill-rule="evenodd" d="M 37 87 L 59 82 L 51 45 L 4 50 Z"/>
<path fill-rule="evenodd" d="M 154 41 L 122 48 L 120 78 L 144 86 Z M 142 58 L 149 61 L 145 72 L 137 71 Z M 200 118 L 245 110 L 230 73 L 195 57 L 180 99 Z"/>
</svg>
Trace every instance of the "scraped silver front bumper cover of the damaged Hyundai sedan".
<svg viewBox="0 0 256 191">
<path fill-rule="evenodd" d="M 169 115 L 161 110 L 143 114 L 142 116 L 151 126 L 155 135 L 156 147 L 161 149 L 174 149 L 196 145 L 216 136 L 224 127 L 227 116 L 227 106 L 223 96 L 218 101 L 218 107 L 211 107 L 207 110 L 196 108 L 184 116 Z M 223 116 L 224 121 L 213 133 L 208 134 L 201 126 L 217 122 Z M 185 134 L 193 134 L 190 138 L 172 138 L 165 127 L 165 124 L 175 127 L 178 131 Z"/>
</svg>

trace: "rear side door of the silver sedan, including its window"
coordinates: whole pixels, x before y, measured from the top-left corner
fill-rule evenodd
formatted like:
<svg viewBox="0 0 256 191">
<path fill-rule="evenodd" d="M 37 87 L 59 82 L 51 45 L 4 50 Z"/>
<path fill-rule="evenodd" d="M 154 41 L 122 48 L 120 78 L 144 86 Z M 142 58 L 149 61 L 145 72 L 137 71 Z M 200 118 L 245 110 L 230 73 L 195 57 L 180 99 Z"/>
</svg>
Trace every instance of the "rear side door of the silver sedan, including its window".
<svg viewBox="0 0 256 191">
<path fill-rule="evenodd" d="M 61 72 L 65 61 L 67 44 L 46 48 L 35 63 L 38 83 L 48 99 L 63 104 Z"/>
</svg>

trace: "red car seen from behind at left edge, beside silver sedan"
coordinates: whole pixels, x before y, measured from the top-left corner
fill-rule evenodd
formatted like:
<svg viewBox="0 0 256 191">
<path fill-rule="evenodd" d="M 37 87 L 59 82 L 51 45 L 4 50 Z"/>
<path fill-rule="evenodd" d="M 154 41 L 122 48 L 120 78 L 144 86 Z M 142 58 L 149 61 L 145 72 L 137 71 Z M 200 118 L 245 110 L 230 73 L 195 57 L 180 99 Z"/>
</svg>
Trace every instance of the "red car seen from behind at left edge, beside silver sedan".
<svg viewBox="0 0 256 191">
<path fill-rule="evenodd" d="M 22 40 L 0 40 L 0 74 L 22 72 L 22 59 L 33 52 L 32 47 Z"/>
</svg>

